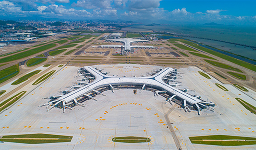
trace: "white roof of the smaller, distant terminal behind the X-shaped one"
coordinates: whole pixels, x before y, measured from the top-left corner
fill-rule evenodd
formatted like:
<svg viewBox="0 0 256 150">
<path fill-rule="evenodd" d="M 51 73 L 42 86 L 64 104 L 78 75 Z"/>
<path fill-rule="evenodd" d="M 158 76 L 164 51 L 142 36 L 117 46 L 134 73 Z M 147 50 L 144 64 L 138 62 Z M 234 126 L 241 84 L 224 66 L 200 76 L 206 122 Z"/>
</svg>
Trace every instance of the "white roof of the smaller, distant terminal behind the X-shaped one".
<svg viewBox="0 0 256 150">
<path fill-rule="evenodd" d="M 106 41 L 110 42 L 123 42 L 125 50 L 131 51 L 131 48 L 154 48 L 154 46 L 145 46 L 145 45 L 130 45 L 132 42 L 150 42 L 148 40 L 141 39 L 132 39 L 132 38 L 123 38 L 123 39 L 107 39 Z M 121 48 L 122 45 L 101 45 L 101 47 L 107 48 Z"/>
</svg>

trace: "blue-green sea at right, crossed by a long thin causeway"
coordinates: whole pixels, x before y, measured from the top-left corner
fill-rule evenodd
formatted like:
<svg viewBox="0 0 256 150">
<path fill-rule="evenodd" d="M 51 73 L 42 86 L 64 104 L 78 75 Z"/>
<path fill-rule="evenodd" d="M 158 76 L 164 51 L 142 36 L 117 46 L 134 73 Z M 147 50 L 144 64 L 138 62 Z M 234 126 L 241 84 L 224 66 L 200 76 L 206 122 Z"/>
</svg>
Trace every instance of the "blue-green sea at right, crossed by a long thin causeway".
<svg viewBox="0 0 256 150">
<path fill-rule="evenodd" d="M 136 26 L 133 26 L 136 27 Z M 158 26 L 137 26 L 154 31 L 167 31 L 176 34 L 185 34 L 195 37 L 217 39 L 222 41 L 234 42 L 256 46 L 256 26 L 208 26 L 208 25 L 158 25 Z M 187 38 L 187 37 L 184 37 Z M 256 50 L 244 46 L 234 46 L 234 44 L 198 39 L 187 38 L 215 48 L 239 54 L 256 60 Z"/>
</svg>

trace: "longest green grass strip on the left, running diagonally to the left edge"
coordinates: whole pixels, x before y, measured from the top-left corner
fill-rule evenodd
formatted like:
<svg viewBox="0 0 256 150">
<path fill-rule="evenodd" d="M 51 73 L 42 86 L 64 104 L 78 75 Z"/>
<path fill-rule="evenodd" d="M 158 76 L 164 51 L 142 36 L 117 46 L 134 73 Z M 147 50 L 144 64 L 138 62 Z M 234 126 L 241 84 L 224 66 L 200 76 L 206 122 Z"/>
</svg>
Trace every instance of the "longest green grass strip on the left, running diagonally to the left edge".
<svg viewBox="0 0 256 150">
<path fill-rule="evenodd" d="M 25 52 L 21 52 L 19 54 L 8 56 L 8 57 L 0 59 L 0 63 L 9 62 L 9 61 L 25 58 L 25 57 L 37 54 L 39 52 L 45 51 L 47 49 L 53 48 L 54 46 L 56 46 L 56 44 L 47 44 L 47 45 L 40 46 L 40 47 L 35 48 L 35 49 L 31 49 L 31 50 L 28 50 L 28 51 L 25 51 Z"/>
</svg>

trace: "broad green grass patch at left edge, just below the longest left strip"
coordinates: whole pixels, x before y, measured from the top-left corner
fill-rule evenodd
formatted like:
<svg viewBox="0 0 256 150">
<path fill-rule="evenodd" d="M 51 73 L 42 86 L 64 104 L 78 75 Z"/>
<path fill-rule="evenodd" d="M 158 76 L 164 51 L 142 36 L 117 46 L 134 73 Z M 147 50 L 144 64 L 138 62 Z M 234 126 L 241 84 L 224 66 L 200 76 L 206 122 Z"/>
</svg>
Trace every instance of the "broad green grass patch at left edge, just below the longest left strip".
<svg viewBox="0 0 256 150">
<path fill-rule="evenodd" d="M 15 64 L 11 67 L 5 68 L 0 71 L 0 83 L 11 79 L 12 77 L 19 74 L 19 64 Z"/>
</svg>

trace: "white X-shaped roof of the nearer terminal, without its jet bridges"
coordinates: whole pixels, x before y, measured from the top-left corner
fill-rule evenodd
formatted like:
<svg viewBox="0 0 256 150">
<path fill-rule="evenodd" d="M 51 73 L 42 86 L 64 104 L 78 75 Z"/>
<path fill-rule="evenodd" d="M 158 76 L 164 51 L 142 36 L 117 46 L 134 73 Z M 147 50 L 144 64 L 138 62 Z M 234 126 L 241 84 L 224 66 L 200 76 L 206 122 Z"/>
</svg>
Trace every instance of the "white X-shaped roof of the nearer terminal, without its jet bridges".
<svg viewBox="0 0 256 150">
<path fill-rule="evenodd" d="M 179 89 L 173 88 L 170 85 L 167 85 L 165 82 L 162 81 L 162 78 L 165 77 L 168 73 L 173 71 L 172 68 L 165 68 L 158 74 L 150 77 L 137 77 L 137 78 L 130 78 L 130 77 L 112 77 L 103 75 L 96 69 L 86 66 L 84 67 L 86 71 L 91 73 L 95 76 L 95 80 L 86 85 L 82 88 L 74 90 L 66 95 L 63 95 L 58 98 L 58 100 L 68 103 L 73 100 L 73 98 L 78 98 L 83 96 L 85 93 L 89 93 L 92 90 L 96 90 L 101 87 L 106 87 L 108 85 L 118 86 L 118 85 L 141 85 L 144 84 L 149 87 L 157 87 L 158 89 L 166 90 L 167 93 L 174 94 L 177 97 L 180 97 L 187 101 L 190 105 L 196 104 L 198 102 L 202 102 L 202 100 L 195 98 Z"/>
</svg>

